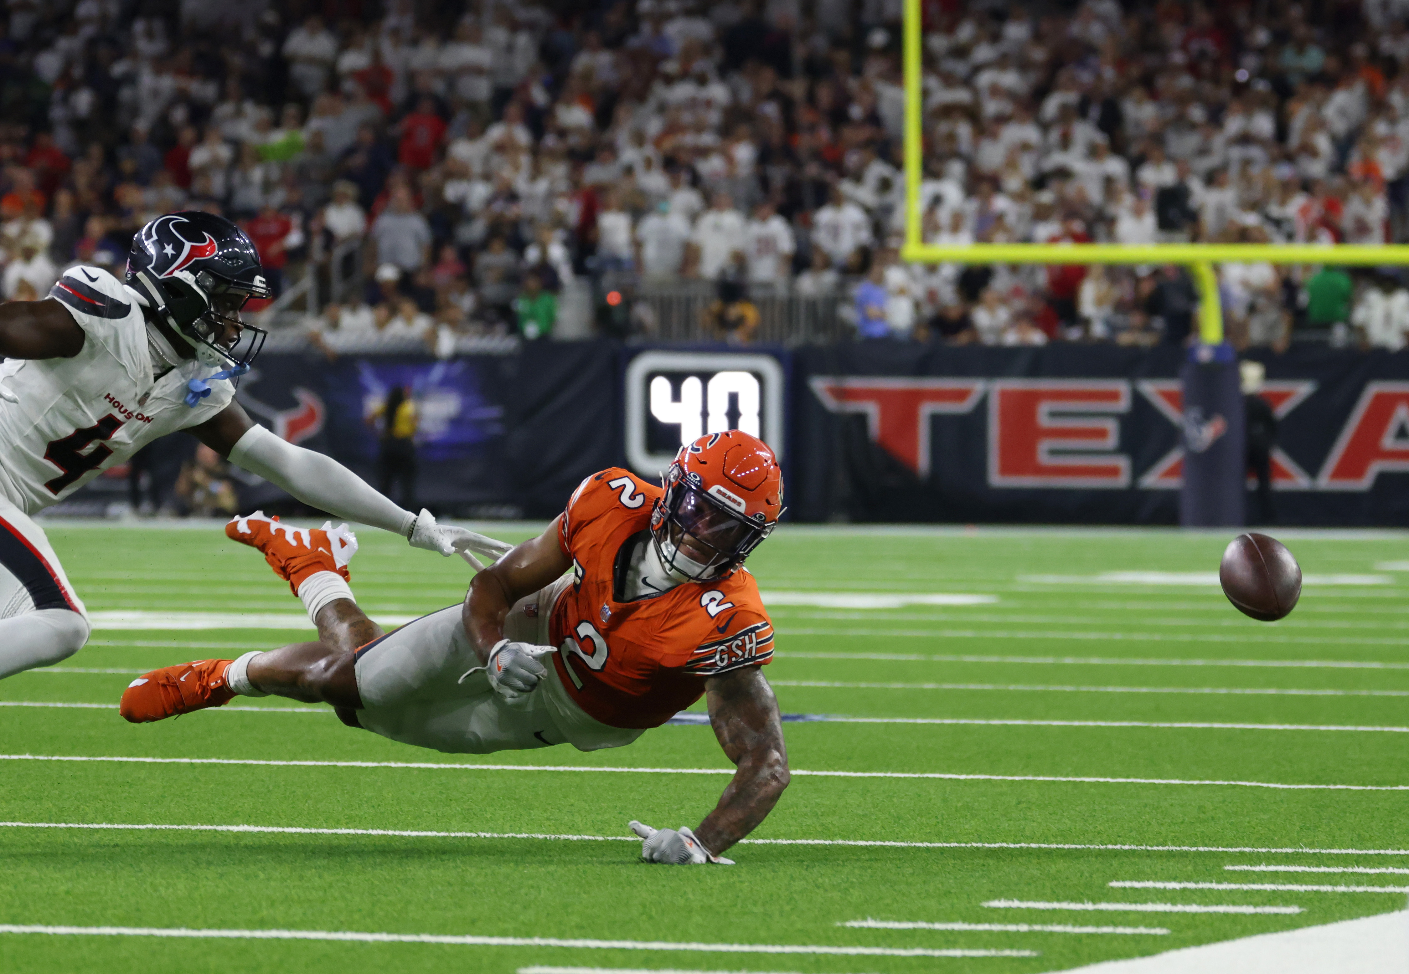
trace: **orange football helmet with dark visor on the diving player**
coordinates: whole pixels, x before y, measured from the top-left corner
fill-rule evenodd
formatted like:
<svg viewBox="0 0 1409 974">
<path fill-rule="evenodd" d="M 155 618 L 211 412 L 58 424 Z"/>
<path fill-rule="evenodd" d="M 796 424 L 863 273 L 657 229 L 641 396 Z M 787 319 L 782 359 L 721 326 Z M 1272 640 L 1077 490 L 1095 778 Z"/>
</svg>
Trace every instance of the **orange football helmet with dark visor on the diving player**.
<svg viewBox="0 0 1409 974">
<path fill-rule="evenodd" d="M 785 510 L 778 457 L 738 429 L 681 446 L 661 480 L 651 536 L 661 562 L 695 581 L 738 569 Z"/>
</svg>

